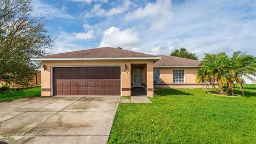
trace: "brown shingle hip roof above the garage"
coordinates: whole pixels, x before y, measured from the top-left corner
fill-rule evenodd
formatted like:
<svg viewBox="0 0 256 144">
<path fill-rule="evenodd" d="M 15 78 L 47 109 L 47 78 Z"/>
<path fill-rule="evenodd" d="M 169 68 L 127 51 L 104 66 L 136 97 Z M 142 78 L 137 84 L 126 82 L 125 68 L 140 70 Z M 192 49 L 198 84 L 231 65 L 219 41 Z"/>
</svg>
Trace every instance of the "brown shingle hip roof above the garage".
<svg viewBox="0 0 256 144">
<path fill-rule="evenodd" d="M 100 47 L 96 49 L 66 52 L 46 55 L 38 58 L 133 58 L 133 57 L 155 57 L 154 55 L 120 50 L 113 47 Z"/>
</svg>

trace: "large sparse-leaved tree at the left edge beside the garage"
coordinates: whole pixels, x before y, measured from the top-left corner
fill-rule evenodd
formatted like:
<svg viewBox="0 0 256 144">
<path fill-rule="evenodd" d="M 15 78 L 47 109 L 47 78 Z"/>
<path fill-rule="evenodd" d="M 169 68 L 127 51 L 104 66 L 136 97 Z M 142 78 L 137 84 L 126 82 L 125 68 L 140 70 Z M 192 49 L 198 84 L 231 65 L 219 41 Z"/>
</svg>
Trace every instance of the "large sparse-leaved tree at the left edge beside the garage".
<svg viewBox="0 0 256 144">
<path fill-rule="evenodd" d="M 38 67 L 30 58 L 52 47 L 43 19 L 32 12 L 31 0 L 0 1 L 0 81 L 27 84 Z"/>
</svg>

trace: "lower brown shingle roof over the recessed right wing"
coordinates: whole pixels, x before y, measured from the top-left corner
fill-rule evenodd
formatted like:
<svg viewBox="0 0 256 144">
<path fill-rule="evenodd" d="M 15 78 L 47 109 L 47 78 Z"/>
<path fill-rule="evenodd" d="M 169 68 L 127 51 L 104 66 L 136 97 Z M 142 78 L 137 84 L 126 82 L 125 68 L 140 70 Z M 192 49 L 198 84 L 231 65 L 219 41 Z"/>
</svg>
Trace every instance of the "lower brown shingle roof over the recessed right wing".
<svg viewBox="0 0 256 144">
<path fill-rule="evenodd" d="M 199 60 L 191 60 L 174 56 L 159 56 L 160 60 L 154 63 L 154 67 L 197 67 Z"/>
</svg>

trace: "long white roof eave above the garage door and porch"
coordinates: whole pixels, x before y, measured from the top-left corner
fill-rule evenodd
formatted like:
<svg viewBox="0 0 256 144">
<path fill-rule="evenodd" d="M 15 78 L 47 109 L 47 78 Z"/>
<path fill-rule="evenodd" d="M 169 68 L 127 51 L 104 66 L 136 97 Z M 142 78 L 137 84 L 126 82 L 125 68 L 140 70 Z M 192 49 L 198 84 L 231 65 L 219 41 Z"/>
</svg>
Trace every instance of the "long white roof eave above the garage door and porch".
<svg viewBox="0 0 256 144">
<path fill-rule="evenodd" d="M 161 57 L 128 57 L 128 58 L 30 58 L 33 61 L 50 60 L 159 60 Z"/>
</svg>

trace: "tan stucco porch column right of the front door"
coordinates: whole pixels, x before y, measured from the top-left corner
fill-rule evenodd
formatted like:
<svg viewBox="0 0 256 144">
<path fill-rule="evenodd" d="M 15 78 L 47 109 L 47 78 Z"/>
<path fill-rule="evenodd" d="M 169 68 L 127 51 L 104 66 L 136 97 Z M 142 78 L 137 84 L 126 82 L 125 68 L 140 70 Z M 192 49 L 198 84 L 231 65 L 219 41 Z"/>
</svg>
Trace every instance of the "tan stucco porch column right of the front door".
<svg viewBox="0 0 256 144">
<path fill-rule="evenodd" d="M 153 62 L 147 63 L 147 96 L 154 97 Z"/>
</svg>

